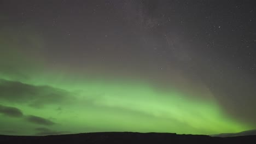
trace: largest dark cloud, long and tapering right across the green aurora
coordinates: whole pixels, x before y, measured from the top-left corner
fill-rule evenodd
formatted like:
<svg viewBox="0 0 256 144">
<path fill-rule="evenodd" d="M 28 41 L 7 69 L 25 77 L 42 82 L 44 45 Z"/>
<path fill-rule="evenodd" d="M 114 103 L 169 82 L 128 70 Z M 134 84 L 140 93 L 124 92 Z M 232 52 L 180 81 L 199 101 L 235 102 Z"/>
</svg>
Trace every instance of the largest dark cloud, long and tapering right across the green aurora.
<svg viewBox="0 0 256 144">
<path fill-rule="evenodd" d="M 0 79 L 0 99 L 26 103 L 33 107 L 72 101 L 70 93 L 50 86 L 33 86 L 18 81 Z"/>
</svg>

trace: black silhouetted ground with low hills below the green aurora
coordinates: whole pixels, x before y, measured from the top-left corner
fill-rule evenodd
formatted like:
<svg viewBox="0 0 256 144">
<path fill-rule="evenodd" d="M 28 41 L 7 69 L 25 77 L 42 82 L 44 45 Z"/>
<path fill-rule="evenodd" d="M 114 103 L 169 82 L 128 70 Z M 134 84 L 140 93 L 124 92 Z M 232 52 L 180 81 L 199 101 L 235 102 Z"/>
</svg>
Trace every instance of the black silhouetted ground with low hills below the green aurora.
<svg viewBox="0 0 256 144">
<path fill-rule="evenodd" d="M 256 143 L 256 135 L 211 137 L 171 133 L 83 133 L 50 136 L 0 135 L 0 143 Z"/>
</svg>

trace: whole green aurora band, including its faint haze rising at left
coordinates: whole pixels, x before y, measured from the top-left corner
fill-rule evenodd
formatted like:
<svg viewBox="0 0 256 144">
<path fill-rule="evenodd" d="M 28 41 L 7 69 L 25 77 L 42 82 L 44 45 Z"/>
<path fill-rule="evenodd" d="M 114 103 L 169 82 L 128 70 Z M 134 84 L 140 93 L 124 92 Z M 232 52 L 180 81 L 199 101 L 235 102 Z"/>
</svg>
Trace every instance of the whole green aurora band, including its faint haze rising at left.
<svg viewBox="0 0 256 144">
<path fill-rule="evenodd" d="M 41 45 L 37 39 L 30 41 L 33 47 Z M 201 93 L 200 96 L 210 95 L 207 98 L 193 97 L 195 93 L 172 86 L 160 89 L 145 79 L 50 69 L 36 57 L 39 55 L 22 53 L 17 43 L 1 39 L 1 46 L 5 47 L 0 55 L 1 134 L 94 131 L 216 134 L 251 128 L 225 113 L 211 92 Z M 22 116 L 8 115 L 11 110 L 20 110 Z"/>
</svg>

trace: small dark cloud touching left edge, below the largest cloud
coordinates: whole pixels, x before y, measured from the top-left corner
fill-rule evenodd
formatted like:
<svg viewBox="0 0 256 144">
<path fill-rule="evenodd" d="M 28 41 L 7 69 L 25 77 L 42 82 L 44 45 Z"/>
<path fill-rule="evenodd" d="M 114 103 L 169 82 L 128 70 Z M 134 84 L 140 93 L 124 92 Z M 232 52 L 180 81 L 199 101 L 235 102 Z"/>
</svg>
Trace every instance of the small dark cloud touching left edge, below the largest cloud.
<svg viewBox="0 0 256 144">
<path fill-rule="evenodd" d="M 3 105 L 0 105 L 0 113 L 3 113 L 5 116 L 10 116 L 10 117 L 23 116 L 23 113 L 21 112 L 21 110 L 17 109 L 16 107 L 3 106 Z"/>
</svg>

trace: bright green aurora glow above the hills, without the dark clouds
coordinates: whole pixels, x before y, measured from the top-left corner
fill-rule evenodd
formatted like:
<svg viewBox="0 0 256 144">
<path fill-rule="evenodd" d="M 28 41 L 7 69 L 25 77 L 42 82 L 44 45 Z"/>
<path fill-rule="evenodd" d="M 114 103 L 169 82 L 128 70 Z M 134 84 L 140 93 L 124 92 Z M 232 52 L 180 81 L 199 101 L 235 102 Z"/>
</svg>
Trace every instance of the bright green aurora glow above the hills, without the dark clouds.
<svg viewBox="0 0 256 144">
<path fill-rule="evenodd" d="M 70 88 L 67 84 L 69 82 L 66 85 L 63 83 L 65 91 L 69 93 L 68 97 L 72 97 L 68 101 L 47 103 L 39 109 L 8 101 L 3 105 L 18 107 L 25 115 L 39 115 L 52 119 L 57 124 L 50 128 L 72 133 L 156 131 L 214 134 L 248 129 L 245 125 L 225 117 L 225 113 L 222 113 L 213 100 L 188 99 L 181 92 L 161 92 L 150 87 L 148 83 L 139 81 L 83 81 L 83 85 L 70 84 Z M 41 84 L 51 86 L 51 82 Z M 61 111 L 57 110 L 59 107 Z M 31 128 L 24 132 L 20 131 L 19 134 L 34 133 L 34 124 L 24 125 L 25 122 L 20 119 L 14 121 L 13 118 L 1 118 L 4 125 L 10 122 L 15 123 L 17 127 Z M 4 125 L 2 128 L 8 128 Z"/>
</svg>

